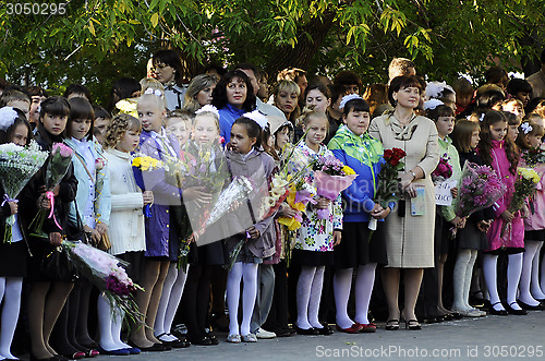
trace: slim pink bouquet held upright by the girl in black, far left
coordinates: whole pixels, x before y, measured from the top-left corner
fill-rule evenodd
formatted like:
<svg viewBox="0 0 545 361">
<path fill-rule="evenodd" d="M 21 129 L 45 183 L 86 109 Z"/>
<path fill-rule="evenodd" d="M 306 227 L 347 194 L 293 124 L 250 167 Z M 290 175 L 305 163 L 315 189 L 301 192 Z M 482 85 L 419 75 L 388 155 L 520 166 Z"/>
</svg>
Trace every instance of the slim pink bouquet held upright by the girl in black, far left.
<svg viewBox="0 0 545 361">
<path fill-rule="evenodd" d="M 68 145 L 64 145 L 62 143 L 55 143 L 46 170 L 46 197 L 51 204 L 51 209 L 47 217 L 53 218 L 53 221 L 57 227 L 59 227 L 59 229 L 62 229 L 62 227 L 59 225 L 57 218 L 55 217 L 55 194 L 52 190 L 61 182 L 62 178 L 66 175 L 72 161 L 73 154 L 74 152 Z M 48 236 L 41 229 L 45 219 L 46 212 L 40 208 L 36 217 L 34 217 L 33 221 L 31 222 L 29 229 L 33 230 L 31 236 L 47 239 Z"/>
</svg>

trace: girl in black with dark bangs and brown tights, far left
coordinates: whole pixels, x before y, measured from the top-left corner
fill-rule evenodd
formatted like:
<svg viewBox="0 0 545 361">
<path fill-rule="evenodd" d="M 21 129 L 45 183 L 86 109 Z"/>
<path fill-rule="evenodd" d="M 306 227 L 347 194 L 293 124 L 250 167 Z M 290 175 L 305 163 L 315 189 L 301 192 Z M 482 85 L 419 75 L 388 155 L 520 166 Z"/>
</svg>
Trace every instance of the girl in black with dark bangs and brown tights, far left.
<svg viewBox="0 0 545 361">
<path fill-rule="evenodd" d="M 70 105 L 62 97 L 49 97 L 41 104 L 40 117 L 36 132 L 36 142 L 43 151 L 51 151 L 53 143 L 62 143 L 62 132 L 66 127 Z M 27 236 L 32 256 L 28 258 L 27 272 L 29 281 L 28 293 L 28 328 L 31 336 L 31 360 L 63 360 L 49 346 L 49 338 L 55 323 L 74 287 L 72 277 L 60 279 L 41 270 L 41 261 L 61 243 L 68 226 L 70 203 L 75 200 L 77 180 L 73 166 L 70 165 L 66 175 L 52 192 L 55 204 L 46 197 L 46 160 L 41 169 L 22 191 L 20 216 L 22 230 L 27 231 L 28 225 L 38 213 L 38 208 L 49 210 L 55 205 L 55 219 L 46 218 L 44 231 L 47 238 Z"/>
</svg>

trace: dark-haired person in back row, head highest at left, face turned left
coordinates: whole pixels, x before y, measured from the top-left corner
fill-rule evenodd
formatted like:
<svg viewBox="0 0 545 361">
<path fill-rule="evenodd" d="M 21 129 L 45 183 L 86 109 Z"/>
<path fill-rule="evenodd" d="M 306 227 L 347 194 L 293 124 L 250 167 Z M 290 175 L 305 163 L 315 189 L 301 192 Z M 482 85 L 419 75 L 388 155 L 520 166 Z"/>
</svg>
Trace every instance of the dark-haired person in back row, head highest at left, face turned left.
<svg viewBox="0 0 545 361">
<path fill-rule="evenodd" d="M 182 84 L 182 60 L 175 50 L 164 49 L 154 53 L 155 77 L 165 86 L 167 110 L 182 109 L 186 85 Z"/>
</svg>

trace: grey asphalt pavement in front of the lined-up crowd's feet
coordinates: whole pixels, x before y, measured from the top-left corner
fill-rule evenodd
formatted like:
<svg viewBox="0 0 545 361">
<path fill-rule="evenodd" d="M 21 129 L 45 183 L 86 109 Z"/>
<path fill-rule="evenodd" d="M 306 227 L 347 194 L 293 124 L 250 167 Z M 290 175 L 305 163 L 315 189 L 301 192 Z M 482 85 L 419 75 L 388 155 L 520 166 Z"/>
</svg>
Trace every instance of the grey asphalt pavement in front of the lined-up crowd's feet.
<svg viewBox="0 0 545 361">
<path fill-rule="evenodd" d="M 114 357 L 132 360 L 545 360 L 545 311 L 525 316 L 462 318 L 423 325 L 421 330 L 385 330 L 375 334 L 301 336 L 228 344 L 219 334 L 217 346 L 191 346 L 158 353 Z M 112 357 L 99 356 L 96 361 Z"/>
</svg>

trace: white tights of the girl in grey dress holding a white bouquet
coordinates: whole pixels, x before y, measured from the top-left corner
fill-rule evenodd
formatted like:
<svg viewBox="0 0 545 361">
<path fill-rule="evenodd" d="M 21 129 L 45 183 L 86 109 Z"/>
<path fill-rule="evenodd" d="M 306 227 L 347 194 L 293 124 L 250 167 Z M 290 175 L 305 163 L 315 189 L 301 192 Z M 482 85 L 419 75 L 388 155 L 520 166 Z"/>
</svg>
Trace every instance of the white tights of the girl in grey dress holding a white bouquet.
<svg viewBox="0 0 545 361">
<path fill-rule="evenodd" d="M 237 262 L 227 274 L 227 306 L 229 309 L 229 334 L 249 335 L 250 322 L 257 297 L 257 264 Z M 239 333 L 240 282 L 244 280 L 242 292 L 242 324 Z"/>
</svg>

